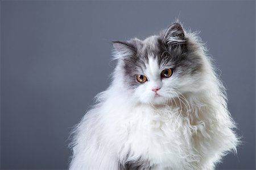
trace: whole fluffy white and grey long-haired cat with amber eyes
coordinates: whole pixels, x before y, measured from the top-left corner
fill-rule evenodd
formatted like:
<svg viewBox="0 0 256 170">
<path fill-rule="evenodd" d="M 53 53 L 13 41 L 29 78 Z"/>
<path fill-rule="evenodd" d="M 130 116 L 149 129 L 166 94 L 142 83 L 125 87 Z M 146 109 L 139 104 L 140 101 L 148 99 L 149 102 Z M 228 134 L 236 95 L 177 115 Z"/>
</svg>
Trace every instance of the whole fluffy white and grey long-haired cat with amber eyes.
<svg viewBox="0 0 256 170">
<path fill-rule="evenodd" d="M 239 142 L 196 33 L 112 42 L 112 83 L 73 131 L 69 169 L 214 169 Z"/>
</svg>

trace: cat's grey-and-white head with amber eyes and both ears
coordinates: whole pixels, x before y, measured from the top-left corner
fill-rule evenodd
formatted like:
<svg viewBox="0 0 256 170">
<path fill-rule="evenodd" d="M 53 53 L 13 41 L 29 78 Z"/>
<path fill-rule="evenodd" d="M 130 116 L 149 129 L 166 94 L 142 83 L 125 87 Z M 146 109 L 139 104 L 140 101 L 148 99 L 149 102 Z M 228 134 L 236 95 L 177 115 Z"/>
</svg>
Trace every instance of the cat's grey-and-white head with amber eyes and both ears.
<svg viewBox="0 0 256 170">
<path fill-rule="evenodd" d="M 160 35 L 113 42 L 113 46 L 118 60 L 114 82 L 121 83 L 138 102 L 162 105 L 200 86 L 199 45 L 189 39 L 180 23 Z"/>
</svg>

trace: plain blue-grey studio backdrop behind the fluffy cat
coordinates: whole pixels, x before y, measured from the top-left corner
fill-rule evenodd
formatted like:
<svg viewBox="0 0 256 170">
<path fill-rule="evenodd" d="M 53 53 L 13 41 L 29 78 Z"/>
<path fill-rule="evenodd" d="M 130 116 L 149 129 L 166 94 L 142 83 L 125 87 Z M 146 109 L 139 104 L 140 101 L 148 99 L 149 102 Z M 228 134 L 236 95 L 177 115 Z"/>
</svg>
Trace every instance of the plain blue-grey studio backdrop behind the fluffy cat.
<svg viewBox="0 0 256 170">
<path fill-rule="evenodd" d="M 207 42 L 244 142 L 218 169 L 255 169 L 255 1 L 1 1 L 1 169 L 66 169 L 72 126 L 109 85 L 109 42 L 177 17 Z"/>
</svg>

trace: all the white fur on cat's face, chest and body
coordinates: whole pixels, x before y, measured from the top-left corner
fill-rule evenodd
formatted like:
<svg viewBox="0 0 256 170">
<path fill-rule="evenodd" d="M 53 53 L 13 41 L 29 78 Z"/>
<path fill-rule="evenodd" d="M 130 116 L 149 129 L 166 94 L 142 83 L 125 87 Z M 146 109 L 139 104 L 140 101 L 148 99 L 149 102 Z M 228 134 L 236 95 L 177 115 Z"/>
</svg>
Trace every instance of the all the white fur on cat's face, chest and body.
<svg viewBox="0 0 256 170">
<path fill-rule="evenodd" d="M 174 73 L 161 81 L 163 68 L 151 57 L 142 72 L 148 81 L 133 92 L 121 80 L 119 60 L 112 84 L 98 94 L 97 105 L 75 128 L 71 170 L 118 169 L 119 161 L 140 157 L 155 169 L 214 169 L 222 156 L 236 152 L 238 139 L 224 87 L 200 39 L 192 33 L 185 36 L 197 45 L 195 55 L 204 66 L 201 74 Z M 161 97 L 152 92 L 155 86 L 161 88 Z"/>
</svg>

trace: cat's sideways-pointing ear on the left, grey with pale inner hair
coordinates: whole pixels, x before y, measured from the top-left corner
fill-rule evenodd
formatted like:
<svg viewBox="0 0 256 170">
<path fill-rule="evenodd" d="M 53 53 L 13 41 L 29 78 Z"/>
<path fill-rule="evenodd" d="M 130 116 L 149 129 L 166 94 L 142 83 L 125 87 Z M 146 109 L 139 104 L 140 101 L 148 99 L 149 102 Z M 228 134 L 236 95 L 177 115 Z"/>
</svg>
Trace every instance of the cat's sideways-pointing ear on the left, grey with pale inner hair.
<svg viewBox="0 0 256 170">
<path fill-rule="evenodd" d="M 114 50 L 113 50 L 113 56 L 114 59 L 123 59 L 127 56 L 134 55 L 136 52 L 136 48 L 133 44 L 129 42 L 111 42 Z"/>
</svg>

